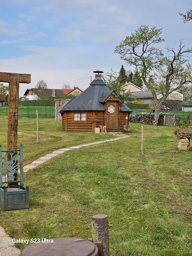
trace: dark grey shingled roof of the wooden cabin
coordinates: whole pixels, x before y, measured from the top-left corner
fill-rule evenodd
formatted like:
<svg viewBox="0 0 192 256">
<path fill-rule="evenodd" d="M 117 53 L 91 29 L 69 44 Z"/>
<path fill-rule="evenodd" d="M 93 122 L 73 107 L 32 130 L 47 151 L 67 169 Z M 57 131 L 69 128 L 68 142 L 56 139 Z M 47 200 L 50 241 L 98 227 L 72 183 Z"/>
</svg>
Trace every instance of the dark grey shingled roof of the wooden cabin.
<svg viewBox="0 0 192 256">
<path fill-rule="evenodd" d="M 105 110 L 104 102 L 110 97 L 114 90 L 109 90 L 106 83 L 99 75 L 96 75 L 90 86 L 84 90 L 77 97 L 73 97 L 68 104 L 66 104 L 60 113 L 64 111 L 80 111 L 80 110 Z M 131 111 L 128 106 L 121 103 L 120 110 L 127 112 Z"/>
</svg>

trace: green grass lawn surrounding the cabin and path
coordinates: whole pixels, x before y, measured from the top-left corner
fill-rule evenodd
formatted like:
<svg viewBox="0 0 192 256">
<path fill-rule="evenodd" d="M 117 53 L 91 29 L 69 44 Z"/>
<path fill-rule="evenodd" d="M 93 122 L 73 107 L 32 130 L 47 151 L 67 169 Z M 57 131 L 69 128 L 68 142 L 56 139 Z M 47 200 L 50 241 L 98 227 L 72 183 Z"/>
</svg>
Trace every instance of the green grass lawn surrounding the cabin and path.
<svg viewBox="0 0 192 256">
<path fill-rule="evenodd" d="M 31 145 L 37 147 L 37 156 L 55 147 L 109 138 L 61 132 L 61 123 L 50 119 L 50 123 L 41 120 L 41 137 L 46 138 L 37 146 L 35 122 L 29 121 L 20 119 L 18 129 L 26 162 L 34 159 L 27 152 Z M 1 130 L 5 123 L 6 118 Z M 0 224 L 13 238 L 91 238 L 91 217 L 107 214 L 113 223 L 109 227 L 111 256 L 192 255 L 192 151 L 177 150 L 176 129 L 143 124 L 142 158 L 141 124 L 133 123 L 127 139 L 64 152 L 24 174 L 30 209 L 0 209 Z M 0 139 L 5 145 L 4 135 Z"/>
</svg>

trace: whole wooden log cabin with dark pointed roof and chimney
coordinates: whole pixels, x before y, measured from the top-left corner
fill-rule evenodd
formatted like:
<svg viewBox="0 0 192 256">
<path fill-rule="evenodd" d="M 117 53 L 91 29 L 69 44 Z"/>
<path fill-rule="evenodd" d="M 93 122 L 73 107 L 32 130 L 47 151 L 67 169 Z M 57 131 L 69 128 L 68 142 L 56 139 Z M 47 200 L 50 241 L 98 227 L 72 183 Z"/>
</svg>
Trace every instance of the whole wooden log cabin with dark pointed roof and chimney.
<svg viewBox="0 0 192 256">
<path fill-rule="evenodd" d="M 124 125 L 128 125 L 131 110 L 106 86 L 101 76 L 103 71 L 93 72 L 95 79 L 90 86 L 60 110 L 62 130 L 94 132 L 102 125 L 107 132 L 122 132 Z"/>
</svg>

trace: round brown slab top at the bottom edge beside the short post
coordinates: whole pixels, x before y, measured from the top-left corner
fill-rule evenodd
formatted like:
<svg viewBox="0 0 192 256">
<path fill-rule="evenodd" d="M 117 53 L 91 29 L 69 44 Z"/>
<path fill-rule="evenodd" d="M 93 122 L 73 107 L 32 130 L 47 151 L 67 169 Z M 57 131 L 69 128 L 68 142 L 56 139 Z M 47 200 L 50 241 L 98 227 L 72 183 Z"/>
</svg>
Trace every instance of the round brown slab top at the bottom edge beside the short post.
<svg viewBox="0 0 192 256">
<path fill-rule="evenodd" d="M 42 241 L 27 246 L 20 256 L 99 256 L 97 246 L 87 239 L 64 237 L 54 238 L 53 243 Z"/>
</svg>

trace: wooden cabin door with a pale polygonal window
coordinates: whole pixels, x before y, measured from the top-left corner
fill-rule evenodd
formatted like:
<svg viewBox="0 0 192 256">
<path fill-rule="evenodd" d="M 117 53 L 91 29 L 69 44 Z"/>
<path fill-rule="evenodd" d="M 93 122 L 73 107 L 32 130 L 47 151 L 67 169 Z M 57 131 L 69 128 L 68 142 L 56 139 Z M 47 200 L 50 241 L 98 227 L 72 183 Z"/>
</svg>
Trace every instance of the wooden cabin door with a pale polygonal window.
<svg viewBox="0 0 192 256">
<path fill-rule="evenodd" d="M 118 131 L 119 102 L 106 102 L 105 125 L 108 131 Z"/>
</svg>

